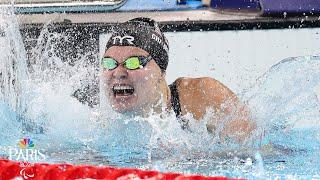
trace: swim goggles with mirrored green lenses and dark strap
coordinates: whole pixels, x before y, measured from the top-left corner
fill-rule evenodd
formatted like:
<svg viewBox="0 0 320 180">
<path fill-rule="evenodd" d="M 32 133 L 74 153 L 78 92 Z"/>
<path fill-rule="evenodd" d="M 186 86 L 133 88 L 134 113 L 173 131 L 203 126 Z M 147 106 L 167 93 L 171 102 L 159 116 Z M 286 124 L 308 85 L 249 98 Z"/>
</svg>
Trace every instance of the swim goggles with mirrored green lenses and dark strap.
<svg viewBox="0 0 320 180">
<path fill-rule="evenodd" d="M 151 56 L 143 57 L 143 56 L 132 56 L 126 59 L 122 65 L 126 69 L 135 70 L 143 68 L 150 60 Z M 113 70 L 119 66 L 119 63 L 111 57 L 103 57 L 101 60 L 101 66 L 107 70 Z"/>
</svg>

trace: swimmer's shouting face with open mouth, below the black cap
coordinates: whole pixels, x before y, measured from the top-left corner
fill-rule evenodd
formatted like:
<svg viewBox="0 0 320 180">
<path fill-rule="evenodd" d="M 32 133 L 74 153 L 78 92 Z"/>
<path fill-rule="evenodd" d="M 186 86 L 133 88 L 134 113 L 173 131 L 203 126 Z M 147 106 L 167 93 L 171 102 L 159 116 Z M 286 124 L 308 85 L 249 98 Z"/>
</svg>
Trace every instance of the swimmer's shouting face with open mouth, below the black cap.
<svg viewBox="0 0 320 180">
<path fill-rule="evenodd" d="M 138 47 L 113 46 L 104 54 L 118 62 L 113 70 L 103 70 L 105 94 L 112 108 L 120 113 L 148 111 L 160 99 L 159 82 L 164 80 L 161 69 L 151 60 L 141 69 L 129 70 L 122 64 L 129 57 L 147 57 L 148 52 Z"/>
</svg>

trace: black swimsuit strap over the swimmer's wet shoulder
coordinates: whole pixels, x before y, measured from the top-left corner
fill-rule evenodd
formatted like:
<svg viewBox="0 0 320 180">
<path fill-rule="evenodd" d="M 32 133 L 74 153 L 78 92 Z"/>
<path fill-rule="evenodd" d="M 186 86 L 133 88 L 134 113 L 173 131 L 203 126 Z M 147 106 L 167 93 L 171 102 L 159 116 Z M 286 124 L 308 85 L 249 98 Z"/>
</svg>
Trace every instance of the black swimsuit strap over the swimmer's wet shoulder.
<svg viewBox="0 0 320 180">
<path fill-rule="evenodd" d="M 181 128 L 184 130 L 189 130 L 188 120 L 181 117 L 181 106 L 176 81 L 170 84 L 169 88 L 171 92 L 171 105 L 174 112 L 176 113 L 179 123 L 181 124 Z"/>
</svg>

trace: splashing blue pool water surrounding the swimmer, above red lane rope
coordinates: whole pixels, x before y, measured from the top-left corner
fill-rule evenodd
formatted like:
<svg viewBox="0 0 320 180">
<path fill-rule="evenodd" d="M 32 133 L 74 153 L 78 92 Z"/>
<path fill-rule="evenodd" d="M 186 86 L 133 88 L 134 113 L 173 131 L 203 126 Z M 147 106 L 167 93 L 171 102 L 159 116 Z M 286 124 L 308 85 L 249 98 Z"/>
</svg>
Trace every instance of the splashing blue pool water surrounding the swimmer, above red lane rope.
<svg viewBox="0 0 320 180">
<path fill-rule="evenodd" d="M 126 118 L 114 113 L 103 95 L 95 108 L 81 104 L 71 94 L 97 73 L 85 64 L 85 54 L 69 66 L 55 55 L 64 35 L 44 27 L 27 66 L 10 11 L 1 14 L 0 30 L 3 157 L 30 137 L 45 152 L 42 162 L 249 179 L 320 178 L 320 56 L 282 60 L 239 94 L 258 128 L 243 144 L 222 143 L 207 132 L 206 117 L 197 122 L 187 115 L 189 132 L 173 113 Z"/>
</svg>

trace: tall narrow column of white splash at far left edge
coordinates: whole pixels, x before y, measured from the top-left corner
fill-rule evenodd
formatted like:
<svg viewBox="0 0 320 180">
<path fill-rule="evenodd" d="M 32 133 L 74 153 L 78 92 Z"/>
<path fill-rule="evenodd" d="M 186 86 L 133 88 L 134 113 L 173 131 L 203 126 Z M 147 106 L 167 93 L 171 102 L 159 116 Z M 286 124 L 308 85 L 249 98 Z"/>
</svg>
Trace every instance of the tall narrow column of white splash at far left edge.
<svg viewBox="0 0 320 180">
<path fill-rule="evenodd" d="M 26 108 L 26 52 L 13 8 L 0 11 L 0 98 L 21 115 Z"/>
</svg>

